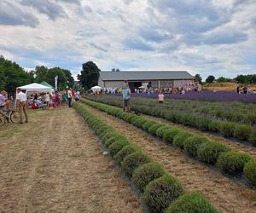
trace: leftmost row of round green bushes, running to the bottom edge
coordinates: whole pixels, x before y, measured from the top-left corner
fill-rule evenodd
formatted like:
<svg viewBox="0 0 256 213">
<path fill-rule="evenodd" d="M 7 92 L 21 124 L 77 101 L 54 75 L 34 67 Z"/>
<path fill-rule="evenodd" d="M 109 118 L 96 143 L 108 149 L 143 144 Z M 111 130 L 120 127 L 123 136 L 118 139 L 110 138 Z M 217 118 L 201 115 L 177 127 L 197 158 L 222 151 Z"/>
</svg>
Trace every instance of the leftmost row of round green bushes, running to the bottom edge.
<svg viewBox="0 0 256 213">
<path fill-rule="evenodd" d="M 125 136 L 96 118 L 81 104 L 74 103 L 73 107 L 108 147 L 110 155 L 121 166 L 125 175 L 143 193 L 143 203 L 150 212 L 218 212 L 201 193 L 186 193 L 182 184 L 167 174 L 160 164 L 154 163 Z M 125 115 L 124 118 L 130 117 Z"/>
</svg>

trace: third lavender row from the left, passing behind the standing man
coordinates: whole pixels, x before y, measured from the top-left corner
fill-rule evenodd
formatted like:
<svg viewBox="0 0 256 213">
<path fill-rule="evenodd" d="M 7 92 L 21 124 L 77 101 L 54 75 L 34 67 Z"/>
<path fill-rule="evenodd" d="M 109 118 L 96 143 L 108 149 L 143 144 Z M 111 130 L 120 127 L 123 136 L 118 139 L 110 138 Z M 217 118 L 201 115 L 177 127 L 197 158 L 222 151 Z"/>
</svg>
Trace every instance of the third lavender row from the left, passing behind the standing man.
<svg viewBox="0 0 256 213">
<path fill-rule="evenodd" d="M 94 100 L 101 101 L 103 103 L 108 103 L 113 106 L 121 107 L 120 100 Z M 89 97 L 92 99 L 92 97 Z M 168 107 L 162 107 L 152 104 L 142 104 L 138 103 L 137 100 L 133 101 L 131 106 L 132 110 L 137 112 L 142 112 L 151 116 L 166 118 L 169 121 L 177 124 L 183 124 L 186 126 L 194 127 L 198 130 L 206 130 L 212 132 L 218 132 L 224 137 L 234 137 L 241 141 L 250 141 L 254 146 L 256 146 L 256 130 L 253 129 L 249 124 L 238 124 L 231 121 L 216 120 L 208 118 L 201 114 L 193 113 L 191 108 L 190 112 L 175 110 L 175 107 L 169 109 Z M 255 118 L 255 115 L 253 116 Z"/>
</svg>

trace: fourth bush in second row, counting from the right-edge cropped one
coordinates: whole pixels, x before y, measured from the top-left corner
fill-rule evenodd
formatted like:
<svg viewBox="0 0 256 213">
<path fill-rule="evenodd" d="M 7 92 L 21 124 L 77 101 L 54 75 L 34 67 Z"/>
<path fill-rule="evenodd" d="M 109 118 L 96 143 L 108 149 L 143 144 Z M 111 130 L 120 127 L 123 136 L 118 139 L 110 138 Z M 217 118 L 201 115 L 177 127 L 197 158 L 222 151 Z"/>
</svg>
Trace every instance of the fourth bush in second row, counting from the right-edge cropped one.
<svg viewBox="0 0 256 213">
<path fill-rule="evenodd" d="M 206 137 L 193 135 L 185 140 L 183 144 L 184 150 L 186 153 L 196 157 L 199 147 L 208 141 Z"/>
</svg>

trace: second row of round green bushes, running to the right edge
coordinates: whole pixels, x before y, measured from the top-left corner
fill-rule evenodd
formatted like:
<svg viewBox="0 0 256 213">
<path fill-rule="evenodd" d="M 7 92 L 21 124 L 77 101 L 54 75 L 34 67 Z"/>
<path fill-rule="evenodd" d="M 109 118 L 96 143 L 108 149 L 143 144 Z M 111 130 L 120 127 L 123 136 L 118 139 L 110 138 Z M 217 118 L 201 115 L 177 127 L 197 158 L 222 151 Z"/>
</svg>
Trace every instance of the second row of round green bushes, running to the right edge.
<svg viewBox="0 0 256 213">
<path fill-rule="evenodd" d="M 152 135 L 160 136 L 164 141 L 172 143 L 191 157 L 216 165 L 224 173 L 231 176 L 242 173 L 247 181 L 256 186 L 256 167 L 253 167 L 252 163 L 254 159 L 245 153 L 234 152 L 230 147 L 217 141 L 210 141 L 207 137 L 191 134 L 171 125 L 160 124 L 136 114 L 122 112 L 118 108 L 89 100 L 82 101 L 91 107 L 96 107 L 98 110 L 134 124 Z"/>
</svg>

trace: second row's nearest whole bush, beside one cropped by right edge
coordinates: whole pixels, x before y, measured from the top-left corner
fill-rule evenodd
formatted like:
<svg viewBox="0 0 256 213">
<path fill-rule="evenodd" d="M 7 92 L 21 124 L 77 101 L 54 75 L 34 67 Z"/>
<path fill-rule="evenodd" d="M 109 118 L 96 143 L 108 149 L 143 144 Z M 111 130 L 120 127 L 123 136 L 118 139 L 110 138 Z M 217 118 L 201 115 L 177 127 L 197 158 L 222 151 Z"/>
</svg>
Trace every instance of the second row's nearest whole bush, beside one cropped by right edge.
<svg viewBox="0 0 256 213">
<path fill-rule="evenodd" d="M 228 152 L 218 157 L 218 169 L 230 175 L 242 172 L 244 165 L 251 159 L 246 153 Z"/>
</svg>

